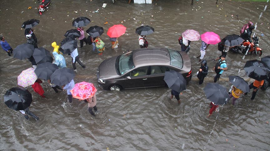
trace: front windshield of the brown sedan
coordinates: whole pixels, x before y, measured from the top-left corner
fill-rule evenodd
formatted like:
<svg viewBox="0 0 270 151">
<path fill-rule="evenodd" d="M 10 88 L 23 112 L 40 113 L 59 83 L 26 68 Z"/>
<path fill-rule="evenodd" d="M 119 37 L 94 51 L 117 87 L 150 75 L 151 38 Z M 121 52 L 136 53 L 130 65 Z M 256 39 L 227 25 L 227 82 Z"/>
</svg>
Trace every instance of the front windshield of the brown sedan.
<svg viewBox="0 0 270 151">
<path fill-rule="evenodd" d="M 133 63 L 133 51 L 125 53 L 120 56 L 118 61 L 118 70 L 120 75 L 123 75 L 124 73 L 130 71 L 133 69 L 134 63 Z"/>
</svg>

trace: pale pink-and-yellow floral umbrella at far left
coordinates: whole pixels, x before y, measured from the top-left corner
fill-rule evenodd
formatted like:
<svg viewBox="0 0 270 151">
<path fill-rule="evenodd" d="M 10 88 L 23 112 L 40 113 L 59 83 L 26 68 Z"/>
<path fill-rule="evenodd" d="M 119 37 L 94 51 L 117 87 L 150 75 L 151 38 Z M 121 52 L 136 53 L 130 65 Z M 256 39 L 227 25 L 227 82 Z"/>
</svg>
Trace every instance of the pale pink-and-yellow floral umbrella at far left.
<svg viewBox="0 0 270 151">
<path fill-rule="evenodd" d="M 29 85 L 33 85 L 37 80 L 37 75 L 35 73 L 34 68 L 28 68 L 17 77 L 18 85 L 22 87 L 27 87 Z"/>
</svg>

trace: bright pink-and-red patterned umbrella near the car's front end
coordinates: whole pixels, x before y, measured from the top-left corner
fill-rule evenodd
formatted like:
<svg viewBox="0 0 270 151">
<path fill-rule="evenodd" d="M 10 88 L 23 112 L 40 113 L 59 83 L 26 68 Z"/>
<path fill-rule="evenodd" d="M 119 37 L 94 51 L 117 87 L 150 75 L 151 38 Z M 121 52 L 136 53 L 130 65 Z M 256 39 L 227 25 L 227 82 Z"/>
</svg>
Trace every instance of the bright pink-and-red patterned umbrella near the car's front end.
<svg viewBox="0 0 270 151">
<path fill-rule="evenodd" d="M 74 88 L 70 90 L 73 98 L 78 98 L 80 100 L 84 100 L 87 98 L 91 98 L 97 92 L 97 89 L 93 85 L 93 83 L 88 82 L 80 82 L 75 84 Z"/>
</svg>

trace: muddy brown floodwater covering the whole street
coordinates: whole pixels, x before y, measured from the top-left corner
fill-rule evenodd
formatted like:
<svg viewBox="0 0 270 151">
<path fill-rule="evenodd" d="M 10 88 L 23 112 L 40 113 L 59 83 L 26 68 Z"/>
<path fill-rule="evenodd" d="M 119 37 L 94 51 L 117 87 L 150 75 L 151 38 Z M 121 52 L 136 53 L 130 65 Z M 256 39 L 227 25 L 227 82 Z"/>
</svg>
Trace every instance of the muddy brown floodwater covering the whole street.
<svg viewBox="0 0 270 151">
<path fill-rule="evenodd" d="M 102 8 L 103 3 L 108 3 Z M 78 47 L 83 70 L 77 63 L 78 72 L 75 83 L 93 83 L 98 89 L 98 113 L 93 117 L 88 112 L 88 104 L 73 98 L 67 102 L 67 92 L 56 94 L 43 82 L 41 85 L 46 98 L 36 94 L 31 86 L 26 87 L 32 94 L 30 110 L 40 120 L 30 117 L 26 120 L 19 111 L 9 109 L 3 96 L 8 89 L 17 87 L 17 76 L 29 67 L 28 60 L 8 57 L 0 51 L 0 149 L 9 150 L 269 150 L 270 149 L 270 89 L 258 90 L 254 100 L 251 93 L 237 99 L 235 106 L 230 103 L 220 108 L 218 113 L 209 113 L 210 101 L 206 99 L 203 88 L 212 83 L 216 73 L 213 58 L 220 56 L 217 45 L 210 45 L 204 59 L 209 67 L 208 75 L 202 85 L 198 85 L 196 72 L 200 67 L 198 59 L 201 40 L 192 41 L 188 53 L 192 62 L 192 79 L 187 90 L 180 95 L 181 104 L 173 98 L 166 87 L 128 89 L 120 92 L 103 90 L 98 87 L 97 69 L 99 64 L 128 50 L 138 49 L 138 35 L 135 29 L 142 24 L 150 25 L 155 32 L 148 35 L 149 48 L 165 47 L 180 50 L 178 38 L 187 29 L 203 34 L 207 31 L 217 33 L 220 38 L 228 34 L 239 34 L 248 21 L 257 22 L 253 30 L 259 37 L 262 56 L 270 55 L 270 7 L 263 12 L 269 2 L 238 2 L 227 0 L 154 0 L 152 4 L 128 4 L 128 1 L 69 1 L 53 0 L 52 5 L 38 14 L 37 1 L 0 1 L 0 33 L 11 47 L 26 43 L 21 25 L 28 19 L 40 20 L 34 33 L 38 47 L 53 52 L 51 43 L 57 44 L 65 38 L 67 30 L 75 29 L 72 21 L 80 16 L 88 17 L 91 23 L 85 27 L 98 25 L 105 33 L 100 37 L 105 43 L 103 55 L 92 51 L 92 45 Z M 32 9 L 27 9 L 28 7 Z M 96 11 L 96 12 L 95 12 Z M 263 12 L 261 18 L 259 16 Z M 108 22 L 108 24 L 104 24 Z M 106 32 L 108 28 L 122 24 L 127 27 L 126 34 L 118 38 L 119 47 L 112 49 Z M 252 33 L 252 34 L 253 34 Z M 263 35 L 263 36 L 262 36 Z M 85 36 L 88 35 L 85 33 Z M 79 42 L 78 42 L 79 45 Z M 71 57 L 64 55 L 67 67 L 73 69 Z M 243 67 L 248 60 L 258 59 L 256 55 L 228 52 L 224 71 L 218 84 L 230 89 L 228 76 L 239 75 L 248 84 L 254 80 L 245 75 Z M 238 70 L 241 71 L 238 73 Z"/>
</svg>

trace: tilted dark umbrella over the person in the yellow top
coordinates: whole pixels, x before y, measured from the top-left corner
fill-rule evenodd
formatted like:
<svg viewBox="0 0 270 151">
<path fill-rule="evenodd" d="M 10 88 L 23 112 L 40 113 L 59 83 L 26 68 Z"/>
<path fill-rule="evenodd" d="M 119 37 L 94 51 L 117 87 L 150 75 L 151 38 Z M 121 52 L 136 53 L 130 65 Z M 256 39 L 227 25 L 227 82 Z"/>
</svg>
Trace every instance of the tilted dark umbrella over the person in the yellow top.
<svg viewBox="0 0 270 151">
<path fill-rule="evenodd" d="M 229 81 L 234 85 L 237 89 L 242 90 L 244 93 L 249 92 L 249 87 L 247 81 L 239 76 L 229 76 Z"/>
</svg>

